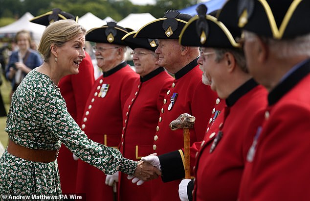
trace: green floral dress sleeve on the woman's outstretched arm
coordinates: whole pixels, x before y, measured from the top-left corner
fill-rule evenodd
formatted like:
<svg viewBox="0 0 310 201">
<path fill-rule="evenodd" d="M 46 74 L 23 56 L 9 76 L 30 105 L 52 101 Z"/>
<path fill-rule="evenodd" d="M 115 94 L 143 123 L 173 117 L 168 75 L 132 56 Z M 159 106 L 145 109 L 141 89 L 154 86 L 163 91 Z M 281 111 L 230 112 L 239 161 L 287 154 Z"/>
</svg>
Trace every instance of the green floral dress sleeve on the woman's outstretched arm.
<svg viewBox="0 0 310 201">
<path fill-rule="evenodd" d="M 40 99 L 45 103 L 45 106 L 42 107 L 43 105 L 39 104 L 37 110 L 41 111 L 39 118 L 43 120 L 43 126 L 57 135 L 60 141 L 80 159 L 99 168 L 104 173 L 113 174 L 116 171 L 121 171 L 133 175 L 136 162 L 123 158 L 117 149 L 88 139 L 67 112 L 65 101 L 57 92 L 58 90 L 55 93 L 45 93 L 44 91 L 40 93 Z"/>
</svg>

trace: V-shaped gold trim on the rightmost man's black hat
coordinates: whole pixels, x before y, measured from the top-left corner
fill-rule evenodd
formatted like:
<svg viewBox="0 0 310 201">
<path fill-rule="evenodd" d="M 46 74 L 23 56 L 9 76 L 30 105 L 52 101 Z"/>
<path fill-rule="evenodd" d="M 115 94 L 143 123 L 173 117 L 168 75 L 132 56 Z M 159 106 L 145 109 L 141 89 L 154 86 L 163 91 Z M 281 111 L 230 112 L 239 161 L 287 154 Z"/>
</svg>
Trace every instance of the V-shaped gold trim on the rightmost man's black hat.
<svg viewBox="0 0 310 201">
<path fill-rule="evenodd" d="M 272 10 L 269 6 L 269 4 L 267 3 L 266 0 L 258 0 L 264 7 L 268 20 L 269 20 L 269 24 L 270 24 L 270 28 L 272 31 L 272 35 L 275 39 L 281 39 L 283 37 L 284 31 L 286 30 L 287 26 L 288 26 L 288 22 L 290 20 L 290 18 L 292 17 L 294 11 L 296 10 L 297 6 L 299 5 L 299 3 L 302 0 L 293 0 L 293 2 L 290 4 L 287 13 L 285 14 L 283 21 L 280 25 L 280 28 L 278 29 L 276 21 L 274 19 Z"/>
</svg>

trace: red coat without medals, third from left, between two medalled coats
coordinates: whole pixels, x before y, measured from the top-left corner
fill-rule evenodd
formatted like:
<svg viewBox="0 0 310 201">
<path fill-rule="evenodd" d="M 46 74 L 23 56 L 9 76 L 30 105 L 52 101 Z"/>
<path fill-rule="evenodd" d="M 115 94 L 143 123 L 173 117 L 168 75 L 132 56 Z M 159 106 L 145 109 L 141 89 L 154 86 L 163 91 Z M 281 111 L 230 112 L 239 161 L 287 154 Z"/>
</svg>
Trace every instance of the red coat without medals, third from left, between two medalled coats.
<svg viewBox="0 0 310 201">
<path fill-rule="evenodd" d="M 120 151 L 125 158 L 132 160 L 140 160 L 142 156 L 153 153 L 153 137 L 161 106 L 173 77 L 160 67 L 140 80 L 136 81 L 123 112 Z M 151 182 L 137 186 L 127 179 L 126 174 L 121 173 L 118 198 L 119 201 L 150 201 Z"/>
</svg>

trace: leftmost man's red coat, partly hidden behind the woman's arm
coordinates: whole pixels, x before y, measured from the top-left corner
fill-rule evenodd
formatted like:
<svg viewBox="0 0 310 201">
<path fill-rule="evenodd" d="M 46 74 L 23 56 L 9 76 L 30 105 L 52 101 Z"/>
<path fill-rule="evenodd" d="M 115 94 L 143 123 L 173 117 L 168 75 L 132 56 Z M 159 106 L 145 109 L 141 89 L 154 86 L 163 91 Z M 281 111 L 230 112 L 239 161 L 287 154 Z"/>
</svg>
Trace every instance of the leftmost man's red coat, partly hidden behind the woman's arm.
<svg viewBox="0 0 310 201">
<path fill-rule="evenodd" d="M 79 126 L 81 126 L 86 100 L 95 80 L 91 58 L 86 52 L 85 55 L 79 67 L 79 74 L 66 75 L 58 84 L 61 95 L 66 100 L 68 112 Z M 61 146 L 57 162 L 62 192 L 75 193 L 77 161 L 73 160 L 72 152 L 65 146 Z"/>
</svg>

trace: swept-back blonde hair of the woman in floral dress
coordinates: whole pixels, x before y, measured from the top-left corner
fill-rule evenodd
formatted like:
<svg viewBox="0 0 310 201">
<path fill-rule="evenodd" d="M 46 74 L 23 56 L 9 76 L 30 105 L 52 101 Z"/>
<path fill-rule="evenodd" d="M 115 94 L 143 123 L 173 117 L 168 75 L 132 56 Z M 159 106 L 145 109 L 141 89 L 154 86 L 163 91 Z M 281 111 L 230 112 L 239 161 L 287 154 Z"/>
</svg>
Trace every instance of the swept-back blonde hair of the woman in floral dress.
<svg viewBox="0 0 310 201">
<path fill-rule="evenodd" d="M 43 55 L 44 62 L 48 62 L 51 56 L 52 44 L 61 47 L 81 33 L 85 34 L 83 27 L 74 20 L 59 20 L 48 25 L 38 45 L 38 51 Z"/>
</svg>

